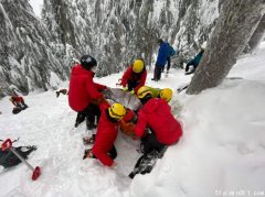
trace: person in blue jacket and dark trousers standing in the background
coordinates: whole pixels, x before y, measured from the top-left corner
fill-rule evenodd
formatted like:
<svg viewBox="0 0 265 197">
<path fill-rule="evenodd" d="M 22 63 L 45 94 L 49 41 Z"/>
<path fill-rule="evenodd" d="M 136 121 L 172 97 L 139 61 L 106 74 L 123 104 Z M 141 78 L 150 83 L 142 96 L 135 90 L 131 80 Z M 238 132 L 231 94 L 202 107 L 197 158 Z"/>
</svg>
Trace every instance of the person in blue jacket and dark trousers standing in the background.
<svg viewBox="0 0 265 197">
<path fill-rule="evenodd" d="M 176 54 L 176 51 L 172 48 L 172 46 L 169 45 L 169 43 L 165 42 L 163 40 L 159 39 L 158 40 L 159 44 L 159 50 L 158 50 L 158 56 L 157 56 L 157 62 L 155 66 L 155 72 L 153 72 L 153 78 L 151 80 L 160 80 L 161 78 L 161 73 L 165 69 L 165 65 L 168 62 L 167 66 L 167 74 L 170 68 L 170 56 Z"/>
</svg>

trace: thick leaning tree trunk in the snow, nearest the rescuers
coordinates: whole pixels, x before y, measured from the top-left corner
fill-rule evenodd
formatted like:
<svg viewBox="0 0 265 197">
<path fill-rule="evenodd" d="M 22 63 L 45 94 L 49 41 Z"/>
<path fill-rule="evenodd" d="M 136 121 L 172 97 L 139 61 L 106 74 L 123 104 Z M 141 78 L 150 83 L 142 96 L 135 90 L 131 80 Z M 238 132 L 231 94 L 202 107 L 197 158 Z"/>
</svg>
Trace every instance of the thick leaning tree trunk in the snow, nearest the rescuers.
<svg viewBox="0 0 265 197">
<path fill-rule="evenodd" d="M 229 74 L 265 10 L 265 0 L 225 0 L 188 94 L 215 87 Z"/>
</svg>

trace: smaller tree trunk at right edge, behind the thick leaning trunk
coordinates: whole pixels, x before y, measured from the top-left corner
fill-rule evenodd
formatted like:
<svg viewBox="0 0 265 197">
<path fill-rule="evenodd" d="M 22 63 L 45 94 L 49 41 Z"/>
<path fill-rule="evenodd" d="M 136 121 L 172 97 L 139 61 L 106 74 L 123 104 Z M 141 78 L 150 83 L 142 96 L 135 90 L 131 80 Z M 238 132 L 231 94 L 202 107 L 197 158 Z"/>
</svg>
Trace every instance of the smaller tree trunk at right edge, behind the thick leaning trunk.
<svg viewBox="0 0 265 197">
<path fill-rule="evenodd" d="M 252 34 L 252 37 L 248 42 L 252 52 L 257 48 L 264 35 L 265 35 L 265 14 L 263 15 L 262 20 L 259 21 L 255 32 Z"/>
</svg>

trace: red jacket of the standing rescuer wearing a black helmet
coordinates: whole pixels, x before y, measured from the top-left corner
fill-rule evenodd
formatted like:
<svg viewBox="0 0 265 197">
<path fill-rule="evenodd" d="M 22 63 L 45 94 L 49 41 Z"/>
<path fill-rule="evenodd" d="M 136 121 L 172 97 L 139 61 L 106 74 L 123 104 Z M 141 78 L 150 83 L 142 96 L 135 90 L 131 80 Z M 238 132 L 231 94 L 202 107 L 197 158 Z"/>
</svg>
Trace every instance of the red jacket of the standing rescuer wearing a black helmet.
<svg viewBox="0 0 265 197">
<path fill-rule="evenodd" d="M 93 81 L 94 73 L 87 70 L 77 64 L 72 68 L 70 88 L 68 88 L 68 105 L 75 111 L 83 111 L 92 101 L 92 99 L 103 98 L 99 91 L 106 86 Z"/>
</svg>

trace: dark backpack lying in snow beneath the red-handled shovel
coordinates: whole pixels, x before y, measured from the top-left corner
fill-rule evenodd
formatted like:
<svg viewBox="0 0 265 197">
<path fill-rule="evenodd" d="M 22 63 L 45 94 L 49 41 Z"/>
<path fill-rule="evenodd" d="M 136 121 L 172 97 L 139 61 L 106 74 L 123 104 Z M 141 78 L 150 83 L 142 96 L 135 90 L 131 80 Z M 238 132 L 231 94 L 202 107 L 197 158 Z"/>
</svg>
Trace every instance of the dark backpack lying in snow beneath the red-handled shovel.
<svg viewBox="0 0 265 197">
<path fill-rule="evenodd" d="M 15 149 L 15 151 L 24 158 L 28 158 L 28 155 L 32 152 L 36 150 L 36 146 L 32 145 L 32 146 L 18 146 L 18 147 L 13 147 Z M 2 151 L 0 150 L 0 165 L 3 166 L 4 168 L 8 167 L 12 167 L 18 165 L 19 163 L 21 163 L 21 161 L 19 160 L 19 157 L 13 154 L 12 151 L 7 150 L 7 151 Z"/>
</svg>

